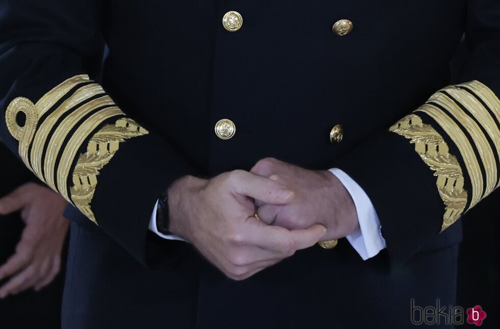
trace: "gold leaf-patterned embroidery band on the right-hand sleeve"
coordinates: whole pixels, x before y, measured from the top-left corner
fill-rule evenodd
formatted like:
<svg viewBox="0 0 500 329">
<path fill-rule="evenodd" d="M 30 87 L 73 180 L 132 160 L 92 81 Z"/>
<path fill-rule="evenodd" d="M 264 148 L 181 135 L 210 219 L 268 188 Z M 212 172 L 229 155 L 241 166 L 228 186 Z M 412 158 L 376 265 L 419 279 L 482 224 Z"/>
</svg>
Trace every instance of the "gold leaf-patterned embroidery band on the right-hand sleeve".
<svg viewBox="0 0 500 329">
<path fill-rule="evenodd" d="M 410 139 L 420 158 L 437 176 L 436 186 L 445 205 L 441 231 L 445 230 L 462 215 L 467 204 L 464 176 L 457 158 L 449 154 L 441 135 L 431 125 L 423 124 L 415 114 L 399 120 L 389 130 Z"/>
</svg>

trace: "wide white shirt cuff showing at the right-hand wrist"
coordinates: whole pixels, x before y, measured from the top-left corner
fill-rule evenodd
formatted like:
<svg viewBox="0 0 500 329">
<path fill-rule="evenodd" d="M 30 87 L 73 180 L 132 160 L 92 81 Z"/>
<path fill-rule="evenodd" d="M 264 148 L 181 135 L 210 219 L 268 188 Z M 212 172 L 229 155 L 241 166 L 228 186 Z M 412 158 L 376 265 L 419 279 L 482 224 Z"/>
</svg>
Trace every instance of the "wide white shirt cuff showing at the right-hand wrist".
<svg viewBox="0 0 500 329">
<path fill-rule="evenodd" d="M 338 168 L 330 169 L 354 201 L 358 213 L 360 231 L 348 235 L 346 238 L 363 260 L 379 254 L 380 250 L 387 247 L 382 236 L 379 216 L 365 191 L 349 175 Z"/>
</svg>

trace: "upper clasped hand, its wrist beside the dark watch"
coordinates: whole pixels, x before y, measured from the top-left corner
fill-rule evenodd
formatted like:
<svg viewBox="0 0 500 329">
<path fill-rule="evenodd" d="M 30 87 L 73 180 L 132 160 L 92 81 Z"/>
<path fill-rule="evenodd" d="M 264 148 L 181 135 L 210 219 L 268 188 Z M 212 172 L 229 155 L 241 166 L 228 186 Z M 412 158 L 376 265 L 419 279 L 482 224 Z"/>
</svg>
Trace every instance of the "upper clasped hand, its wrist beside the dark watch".
<svg viewBox="0 0 500 329">
<path fill-rule="evenodd" d="M 184 176 L 168 190 L 169 231 L 192 242 L 231 279 L 244 280 L 326 233 L 322 225 L 290 231 L 254 217 L 254 199 L 284 205 L 292 198 L 282 184 L 243 170 L 211 180 Z"/>
</svg>

